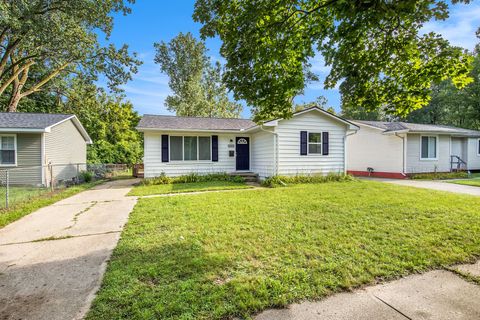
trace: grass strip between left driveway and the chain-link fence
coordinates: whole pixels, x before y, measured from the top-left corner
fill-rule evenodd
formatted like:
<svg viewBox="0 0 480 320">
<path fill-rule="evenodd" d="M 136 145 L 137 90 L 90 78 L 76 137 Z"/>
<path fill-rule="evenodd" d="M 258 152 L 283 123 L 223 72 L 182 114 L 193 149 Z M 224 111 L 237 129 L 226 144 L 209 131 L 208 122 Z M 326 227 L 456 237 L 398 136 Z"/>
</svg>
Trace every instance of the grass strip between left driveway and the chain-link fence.
<svg viewBox="0 0 480 320">
<path fill-rule="evenodd" d="M 12 223 L 42 207 L 73 196 L 74 194 L 87 190 L 102 182 L 104 181 L 100 180 L 91 183 L 84 183 L 54 192 L 49 192 L 46 188 L 43 189 L 43 192 L 38 190 L 35 192 L 29 192 L 27 190 L 33 188 L 12 188 L 11 195 L 13 196 L 14 194 L 17 194 L 16 201 L 12 202 L 12 206 L 10 206 L 8 209 L 0 210 L 0 228 L 3 228 L 7 224 Z"/>
</svg>

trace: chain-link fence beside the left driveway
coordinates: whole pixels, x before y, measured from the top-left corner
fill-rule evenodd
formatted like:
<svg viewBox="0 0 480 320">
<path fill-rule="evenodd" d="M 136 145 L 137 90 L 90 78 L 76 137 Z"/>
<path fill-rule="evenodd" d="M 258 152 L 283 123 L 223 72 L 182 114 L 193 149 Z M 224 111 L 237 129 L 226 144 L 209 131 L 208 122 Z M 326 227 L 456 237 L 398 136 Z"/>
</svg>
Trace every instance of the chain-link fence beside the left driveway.
<svg viewBox="0 0 480 320">
<path fill-rule="evenodd" d="M 3 167 L 0 169 L 0 210 L 73 185 L 131 176 L 131 168 L 125 164 L 69 163 Z"/>
</svg>

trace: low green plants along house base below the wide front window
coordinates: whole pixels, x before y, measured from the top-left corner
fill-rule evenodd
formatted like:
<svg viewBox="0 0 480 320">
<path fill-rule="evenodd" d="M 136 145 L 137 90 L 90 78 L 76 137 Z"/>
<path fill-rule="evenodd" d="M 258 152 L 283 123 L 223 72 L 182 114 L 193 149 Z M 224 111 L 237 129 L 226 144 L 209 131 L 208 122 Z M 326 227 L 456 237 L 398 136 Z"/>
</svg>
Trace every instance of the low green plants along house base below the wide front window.
<svg viewBox="0 0 480 320">
<path fill-rule="evenodd" d="M 167 177 L 165 172 L 162 172 L 160 176 L 155 178 L 147 178 L 144 179 L 142 184 L 149 186 L 149 185 L 157 185 L 157 184 L 172 184 L 172 183 L 192 183 L 192 182 L 209 182 L 209 181 L 230 181 L 230 182 L 237 182 L 237 183 L 244 183 L 245 179 L 240 176 L 232 176 L 227 173 L 210 173 L 210 174 L 198 174 L 198 173 L 190 173 L 183 176 L 178 177 Z"/>
</svg>

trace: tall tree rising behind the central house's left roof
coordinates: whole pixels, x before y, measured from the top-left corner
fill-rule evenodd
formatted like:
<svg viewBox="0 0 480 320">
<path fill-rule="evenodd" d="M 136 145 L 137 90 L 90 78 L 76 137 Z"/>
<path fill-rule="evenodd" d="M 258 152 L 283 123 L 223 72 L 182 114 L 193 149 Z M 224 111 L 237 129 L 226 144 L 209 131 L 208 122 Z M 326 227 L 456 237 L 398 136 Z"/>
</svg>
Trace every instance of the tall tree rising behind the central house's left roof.
<svg viewBox="0 0 480 320">
<path fill-rule="evenodd" d="M 237 118 L 239 103 L 231 102 L 222 81 L 219 62 L 211 64 L 202 41 L 180 33 L 169 43 L 155 43 L 155 62 L 169 76 L 173 95 L 165 99 L 168 110 L 179 116 Z"/>
</svg>

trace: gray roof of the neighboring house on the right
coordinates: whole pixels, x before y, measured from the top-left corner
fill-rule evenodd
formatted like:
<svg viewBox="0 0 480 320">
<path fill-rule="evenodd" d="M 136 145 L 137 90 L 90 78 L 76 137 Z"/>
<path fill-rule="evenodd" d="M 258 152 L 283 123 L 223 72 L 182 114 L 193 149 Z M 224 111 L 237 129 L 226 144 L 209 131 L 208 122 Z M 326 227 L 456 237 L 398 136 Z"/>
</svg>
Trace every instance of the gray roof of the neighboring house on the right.
<svg viewBox="0 0 480 320">
<path fill-rule="evenodd" d="M 395 132 L 395 131 L 407 131 L 407 132 L 431 132 L 439 134 L 452 134 L 452 135 L 461 135 L 461 136 L 480 136 L 480 131 L 463 129 L 451 126 L 443 125 L 433 125 L 433 124 L 420 124 L 420 123 L 409 123 L 409 122 L 386 122 L 386 121 L 364 121 L 364 120 L 354 120 L 354 122 L 365 124 L 371 127 L 384 130 L 384 132 Z"/>
</svg>

